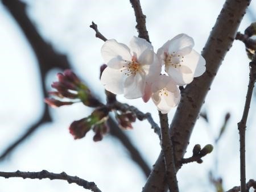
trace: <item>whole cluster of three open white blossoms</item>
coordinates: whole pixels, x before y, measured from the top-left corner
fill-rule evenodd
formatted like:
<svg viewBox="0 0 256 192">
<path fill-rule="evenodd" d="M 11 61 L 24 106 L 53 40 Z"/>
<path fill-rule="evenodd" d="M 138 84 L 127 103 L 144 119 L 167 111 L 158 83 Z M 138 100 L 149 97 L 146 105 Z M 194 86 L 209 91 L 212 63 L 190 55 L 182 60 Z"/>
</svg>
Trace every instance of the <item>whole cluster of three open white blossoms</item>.
<svg viewBox="0 0 256 192">
<path fill-rule="evenodd" d="M 155 53 L 146 40 L 133 37 L 130 46 L 114 39 L 105 41 L 101 55 L 108 67 L 101 76 L 105 89 L 127 99 L 150 98 L 163 114 L 180 101 L 178 86 L 205 72 L 205 60 L 194 49 L 192 37 L 179 34 Z M 164 74 L 162 74 L 164 66 Z"/>
</svg>

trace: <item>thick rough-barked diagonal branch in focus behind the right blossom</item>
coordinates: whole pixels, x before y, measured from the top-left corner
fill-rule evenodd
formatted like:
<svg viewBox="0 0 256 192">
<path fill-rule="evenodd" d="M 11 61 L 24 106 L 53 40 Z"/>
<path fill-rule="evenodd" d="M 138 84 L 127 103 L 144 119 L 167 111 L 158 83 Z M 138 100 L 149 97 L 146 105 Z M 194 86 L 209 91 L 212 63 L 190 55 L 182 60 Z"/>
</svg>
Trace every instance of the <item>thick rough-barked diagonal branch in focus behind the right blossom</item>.
<svg viewBox="0 0 256 192">
<path fill-rule="evenodd" d="M 226 0 L 202 52 L 207 61 L 206 72 L 203 76 L 195 78 L 181 94 L 181 101 L 171 124 L 171 138 L 176 162 L 179 162 L 185 154 L 205 96 L 210 90 L 210 85 L 222 60 L 232 46 L 238 26 L 249 4 L 249 0 Z M 146 185 L 143 187 L 143 192 L 166 191 L 163 170 L 164 160 L 160 154 Z"/>
</svg>

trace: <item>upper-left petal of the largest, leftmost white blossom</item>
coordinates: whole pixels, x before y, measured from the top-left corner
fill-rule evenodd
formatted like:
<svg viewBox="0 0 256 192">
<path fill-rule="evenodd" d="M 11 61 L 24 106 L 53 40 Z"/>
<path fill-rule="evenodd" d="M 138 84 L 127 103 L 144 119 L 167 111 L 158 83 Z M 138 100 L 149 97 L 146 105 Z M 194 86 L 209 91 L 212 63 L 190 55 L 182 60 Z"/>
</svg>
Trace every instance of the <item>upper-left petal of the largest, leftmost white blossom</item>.
<svg viewBox="0 0 256 192">
<path fill-rule="evenodd" d="M 105 41 L 101 48 L 101 56 L 108 65 L 108 62 L 113 58 L 118 58 L 119 60 L 131 60 L 130 49 L 125 44 L 118 43 L 114 39 Z"/>
</svg>

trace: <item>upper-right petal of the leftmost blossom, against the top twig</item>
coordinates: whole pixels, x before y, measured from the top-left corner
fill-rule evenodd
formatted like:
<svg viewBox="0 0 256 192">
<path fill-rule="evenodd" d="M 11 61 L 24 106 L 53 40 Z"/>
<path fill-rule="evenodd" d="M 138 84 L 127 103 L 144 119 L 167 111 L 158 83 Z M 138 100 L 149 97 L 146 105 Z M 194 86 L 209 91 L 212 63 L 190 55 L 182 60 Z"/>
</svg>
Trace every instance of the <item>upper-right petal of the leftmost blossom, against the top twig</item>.
<svg viewBox="0 0 256 192">
<path fill-rule="evenodd" d="M 148 43 L 145 39 L 135 37 L 130 41 L 130 48 L 132 55 L 135 55 L 138 60 L 142 60 L 140 56 L 146 51 L 146 52 L 153 52 L 153 47 L 150 43 Z M 143 64 L 143 63 L 142 63 Z"/>
</svg>

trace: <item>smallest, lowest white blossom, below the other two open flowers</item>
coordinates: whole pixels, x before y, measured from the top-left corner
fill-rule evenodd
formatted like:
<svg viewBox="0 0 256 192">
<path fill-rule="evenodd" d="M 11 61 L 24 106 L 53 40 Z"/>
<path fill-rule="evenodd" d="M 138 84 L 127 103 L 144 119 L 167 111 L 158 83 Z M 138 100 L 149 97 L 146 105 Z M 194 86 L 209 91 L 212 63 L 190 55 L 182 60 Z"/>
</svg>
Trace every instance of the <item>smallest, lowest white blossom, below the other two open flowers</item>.
<svg viewBox="0 0 256 192">
<path fill-rule="evenodd" d="M 160 75 L 152 85 L 152 101 L 162 114 L 167 114 L 180 101 L 180 90 L 171 77 Z"/>
</svg>

